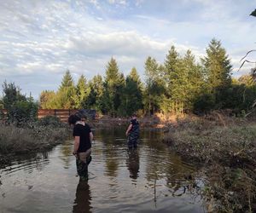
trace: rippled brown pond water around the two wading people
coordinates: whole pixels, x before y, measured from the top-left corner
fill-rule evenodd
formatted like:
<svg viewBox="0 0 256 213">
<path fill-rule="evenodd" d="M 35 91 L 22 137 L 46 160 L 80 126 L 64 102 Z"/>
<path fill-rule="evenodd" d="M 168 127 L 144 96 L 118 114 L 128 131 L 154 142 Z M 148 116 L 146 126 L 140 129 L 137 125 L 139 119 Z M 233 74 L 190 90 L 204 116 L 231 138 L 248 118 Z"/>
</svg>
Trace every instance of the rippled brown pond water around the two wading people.
<svg viewBox="0 0 256 213">
<path fill-rule="evenodd" d="M 200 177 L 160 131 L 144 130 L 133 151 L 124 128 L 94 135 L 88 183 L 76 176 L 70 138 L 0 170 L 0 212 L 204 212 Z"/>
</svg>

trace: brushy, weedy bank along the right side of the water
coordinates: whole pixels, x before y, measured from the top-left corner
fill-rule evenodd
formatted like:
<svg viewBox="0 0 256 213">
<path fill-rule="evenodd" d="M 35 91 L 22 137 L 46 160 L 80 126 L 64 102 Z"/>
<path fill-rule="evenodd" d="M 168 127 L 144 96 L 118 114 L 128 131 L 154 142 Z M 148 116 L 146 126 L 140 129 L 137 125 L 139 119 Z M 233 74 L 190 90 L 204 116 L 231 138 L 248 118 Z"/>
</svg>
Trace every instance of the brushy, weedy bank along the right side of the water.
<svg viewBox="0 0 256 213">
<path fill-rule="evenodd" d="M 219 118 L 180 122 L 164 141 L 201 165 L 209 210 L 256 212 L 256 124 Z"/>
</svg>

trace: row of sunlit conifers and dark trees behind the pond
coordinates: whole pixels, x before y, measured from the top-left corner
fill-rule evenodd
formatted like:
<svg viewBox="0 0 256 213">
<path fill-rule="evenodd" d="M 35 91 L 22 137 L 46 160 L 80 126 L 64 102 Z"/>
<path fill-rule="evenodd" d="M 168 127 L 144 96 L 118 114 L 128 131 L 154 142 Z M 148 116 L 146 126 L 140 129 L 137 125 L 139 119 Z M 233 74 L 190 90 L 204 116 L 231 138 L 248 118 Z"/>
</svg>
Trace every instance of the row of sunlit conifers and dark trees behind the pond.
<svg viewBox="0 0 256 213">
<path fill-rule="evenodd" d="M 144 82 L 136 67 L 125 77 L 113 57 L 105 76 L 96 75 L 90 81 L 81 75 L 75 83 L 67 70 L 57 91 L 42 91 L 40 107 L 91 108 L 113 117 L 133 112 L 205 113 L 218 109 L 232 109 L 236 115 L 243 115 L 256 99 L 256 86 L 249 74 L 235 79 L 232 71 L 229 55 L 213 38 L 199 61 L 190 50 L 181 55 L 174 46 L 163 64 L 148 56 Z"/>
</svg>

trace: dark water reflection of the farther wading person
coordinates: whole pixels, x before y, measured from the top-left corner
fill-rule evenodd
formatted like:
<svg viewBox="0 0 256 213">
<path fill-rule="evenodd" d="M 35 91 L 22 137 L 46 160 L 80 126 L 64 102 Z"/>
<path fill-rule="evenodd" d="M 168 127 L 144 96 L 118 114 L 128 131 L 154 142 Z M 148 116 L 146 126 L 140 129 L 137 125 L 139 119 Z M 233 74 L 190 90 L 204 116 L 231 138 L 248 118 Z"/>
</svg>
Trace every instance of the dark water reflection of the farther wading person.
<svg viewBox="0 0 256 213">
<path fill-rule="evenodd" d="M 138 177 L 140 162 L 139 162 L 138 149 L 128 149 L 128 158 L 126 160 L 126 165 L 130 171 L 131 179 L 136 180 Z"/>
</svg>

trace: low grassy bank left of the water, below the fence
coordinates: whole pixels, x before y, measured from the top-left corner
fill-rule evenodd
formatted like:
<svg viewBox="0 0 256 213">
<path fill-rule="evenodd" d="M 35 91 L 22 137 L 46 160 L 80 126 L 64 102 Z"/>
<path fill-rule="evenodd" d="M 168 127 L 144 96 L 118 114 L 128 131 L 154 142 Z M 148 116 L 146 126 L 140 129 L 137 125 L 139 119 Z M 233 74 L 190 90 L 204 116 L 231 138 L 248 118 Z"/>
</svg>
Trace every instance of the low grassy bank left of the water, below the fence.
<svg viewBox="0 0 256 213">
<path fill-rule="evenodd" d="M 4 164 L 13 154 L 48 150 L 64 141 L 68 133 L 66 124 L 50 117 L 19 127 L 0 124 L 0 164 Z"/>
</svg>

